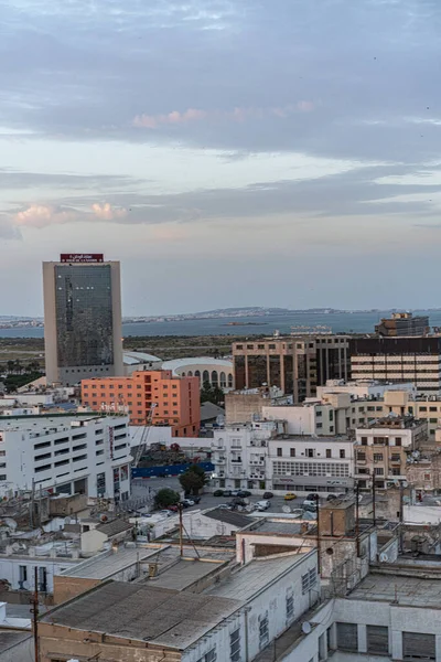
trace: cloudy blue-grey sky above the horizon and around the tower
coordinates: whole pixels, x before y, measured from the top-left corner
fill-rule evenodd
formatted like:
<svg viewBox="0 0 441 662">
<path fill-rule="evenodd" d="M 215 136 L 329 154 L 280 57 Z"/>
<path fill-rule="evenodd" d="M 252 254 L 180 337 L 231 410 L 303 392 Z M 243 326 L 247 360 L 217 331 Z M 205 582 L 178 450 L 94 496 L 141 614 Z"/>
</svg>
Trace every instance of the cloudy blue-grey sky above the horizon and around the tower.
<svg viewBox="0 0 441 662">
<path fill-rule="evenodd" d="M 0 314 L 441 306 L 439 0 L 0 0 Z"/>
</svg>

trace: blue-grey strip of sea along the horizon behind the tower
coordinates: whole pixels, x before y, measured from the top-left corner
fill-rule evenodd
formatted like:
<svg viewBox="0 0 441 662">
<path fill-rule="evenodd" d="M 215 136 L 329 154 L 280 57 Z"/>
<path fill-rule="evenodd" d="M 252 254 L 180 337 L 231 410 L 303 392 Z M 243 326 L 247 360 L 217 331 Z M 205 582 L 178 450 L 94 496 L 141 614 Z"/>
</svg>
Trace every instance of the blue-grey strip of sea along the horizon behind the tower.
<svg viewBox="0 0 441 662">
<path fill-rule="evenodd" d="M 420 310 L 413 314 L 429 316 L 431 327 L 441 327 L 441 310 Z M 333 333 L 373 333 L 381 318 L 390 311 L 361 312 L 290 312 L 256 317 L 180 320 L 164 322 L 131 322 L 122 324 L 122 335 L 272 335 L 291 331 L 330 330 Z M 230 322 L 234 323 L 230 324 Z M 0 338 L 43 338 L 43 328 L 0 329 Z"/>
</svg>

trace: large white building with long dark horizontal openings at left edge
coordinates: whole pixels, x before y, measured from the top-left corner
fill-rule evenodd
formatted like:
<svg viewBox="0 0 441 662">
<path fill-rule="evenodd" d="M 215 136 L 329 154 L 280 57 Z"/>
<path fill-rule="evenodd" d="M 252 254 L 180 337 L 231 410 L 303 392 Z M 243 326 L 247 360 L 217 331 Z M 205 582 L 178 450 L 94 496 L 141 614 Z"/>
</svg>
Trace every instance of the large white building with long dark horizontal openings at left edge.
<svg viewBox="0 0 441 662">
<path fill-rule="evenodd" d="M 58 414 L 0 417 L 0 495 L 18 490 L 130 495 L 127 416 Z"/>
</svg>

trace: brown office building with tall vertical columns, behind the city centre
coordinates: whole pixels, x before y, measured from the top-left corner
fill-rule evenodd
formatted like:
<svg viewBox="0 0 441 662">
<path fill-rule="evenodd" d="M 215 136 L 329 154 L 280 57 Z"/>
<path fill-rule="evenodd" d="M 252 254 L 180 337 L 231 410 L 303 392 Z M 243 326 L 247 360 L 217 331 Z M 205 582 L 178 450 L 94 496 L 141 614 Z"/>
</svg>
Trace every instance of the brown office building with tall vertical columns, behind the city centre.
<svg viewBox="0 0 441 662">
<path fill-rule="evenodd" d="M 295 403 L 316 394 L 327 380 L 347 380 L 347 335 L 311 333 L 233 343 L 236 388 L 277 386 Z"/>
</svg>

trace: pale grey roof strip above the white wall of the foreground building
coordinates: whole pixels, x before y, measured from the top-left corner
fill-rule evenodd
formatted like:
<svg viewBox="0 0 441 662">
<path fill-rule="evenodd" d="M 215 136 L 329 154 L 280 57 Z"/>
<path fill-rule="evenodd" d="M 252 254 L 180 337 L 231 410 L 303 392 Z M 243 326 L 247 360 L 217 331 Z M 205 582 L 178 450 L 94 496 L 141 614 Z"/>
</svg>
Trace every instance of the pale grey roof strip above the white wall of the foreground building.
<svg viewBox="0 0 441 662">
<path fill-rule="evenodd" d="M 312 554 L 310 548 L 306 548 L 303 554 L 254 558 L 216 587 L 208 588 L 206 592 L 229 599 L 240 596 L 241 600 L 248 601 L 273 579 L 301 563 L 308 554 Z"/>
</svg>

